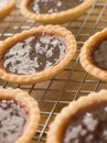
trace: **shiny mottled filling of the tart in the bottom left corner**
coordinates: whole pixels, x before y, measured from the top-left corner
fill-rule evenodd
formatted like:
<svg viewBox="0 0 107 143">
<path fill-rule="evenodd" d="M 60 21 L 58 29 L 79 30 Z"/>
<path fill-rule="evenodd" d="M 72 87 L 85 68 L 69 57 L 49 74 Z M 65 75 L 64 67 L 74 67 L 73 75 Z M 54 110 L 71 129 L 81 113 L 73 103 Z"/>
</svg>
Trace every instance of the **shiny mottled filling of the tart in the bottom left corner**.
<svg viewBox="0 0 107 143">
<path fill-rule="evenodd" d="M 24 109 L 14 100 L 0 101 L 0 143 L 14 143 L 26 122 Z"/>
</svg>

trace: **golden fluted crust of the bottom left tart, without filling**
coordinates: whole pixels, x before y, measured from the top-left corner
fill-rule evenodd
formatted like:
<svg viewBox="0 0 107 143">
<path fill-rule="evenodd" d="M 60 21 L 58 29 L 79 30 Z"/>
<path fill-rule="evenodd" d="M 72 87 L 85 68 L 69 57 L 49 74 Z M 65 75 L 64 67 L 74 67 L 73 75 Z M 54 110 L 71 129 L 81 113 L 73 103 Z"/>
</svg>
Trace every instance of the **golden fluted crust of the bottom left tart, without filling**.
<svg viewBox="0 0 107 143">
<path fill-rule="evenodd" d="M 40 122 L 40 109 L 38 102 L 30 97 L 28 92 L 22 91 L 21 89 L 0 88 L 0 100 L 11 99 L 25 106 L 25 109 L 29 111 L 29 121 L 24 127 L 23 134 L 14 143 L 30 143 Z"/>
</svg>

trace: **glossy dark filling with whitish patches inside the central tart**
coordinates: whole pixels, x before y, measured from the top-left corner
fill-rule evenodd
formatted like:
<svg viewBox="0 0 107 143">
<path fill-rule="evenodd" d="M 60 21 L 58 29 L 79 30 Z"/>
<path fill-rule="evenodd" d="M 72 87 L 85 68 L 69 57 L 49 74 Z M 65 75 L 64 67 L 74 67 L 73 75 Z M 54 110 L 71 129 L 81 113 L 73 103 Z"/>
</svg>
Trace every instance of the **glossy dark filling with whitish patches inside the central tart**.
<svg viewBox="0 0 107 143">
<path fill-rule="evenodd" d="M 13 74 L 29 75 L 49 69 L 65 55 L 65 42 L 55 35 L 30 36 L 15 45 L 3 57 L 3 67 Z"/>
</svg>

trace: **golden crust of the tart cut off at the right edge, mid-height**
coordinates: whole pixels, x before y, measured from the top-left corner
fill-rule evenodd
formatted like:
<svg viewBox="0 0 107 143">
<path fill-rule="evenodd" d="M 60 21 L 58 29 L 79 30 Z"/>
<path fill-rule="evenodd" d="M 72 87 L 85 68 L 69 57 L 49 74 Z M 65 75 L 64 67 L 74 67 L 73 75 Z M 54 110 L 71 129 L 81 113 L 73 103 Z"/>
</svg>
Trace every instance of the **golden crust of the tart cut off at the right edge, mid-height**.
<svg viewBox="0 0 107 143">
<path fill-rule="evenodd" d="M 89 73 L 96 78 L 107 81 L 107 70 L 99 68 L 98 66 L 93 64 L 90 59 L 90 54 L 94 51 L 94 46 L 100 43 L 106 37 L 107 37 L 107 29 L 103 30 L 101 32 L 97 32 L 95 35 L 90 36 L 89 40 L 86 41 L 82 47 L 82 51 L 79 54 L 79 62 L 83 68 L 87 73 Z"/>
</svg>

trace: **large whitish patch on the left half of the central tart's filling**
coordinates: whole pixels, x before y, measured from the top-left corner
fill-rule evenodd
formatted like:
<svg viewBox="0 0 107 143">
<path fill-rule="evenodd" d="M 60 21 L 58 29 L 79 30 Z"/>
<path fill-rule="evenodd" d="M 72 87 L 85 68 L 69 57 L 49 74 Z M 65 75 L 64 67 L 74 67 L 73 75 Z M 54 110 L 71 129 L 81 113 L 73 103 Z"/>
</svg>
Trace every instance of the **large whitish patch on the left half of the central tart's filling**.
<svg viewBox="0 0 107 143">
<path fill-rule="evenodd" d="M 13 48 L 10 50 L 10 53 L 7 54 L 7 56 L 11 56 L 4 62 L 4 67 L 9 65 L 9 63 L 12 63 L 12 67 L 10 67 L 10 70 L 15 73 L 19 70 L 19 74 L 33 74 L 35 72 L 34 67 L 39 67 L 38 59 L 30 61 L 30 50 L 31 46 L 26 45 L 25 48 L 23 47 L 23 43 L 18 43 Z M 18 64 L 17 64 L 18 63 Z"/>
</svg>

